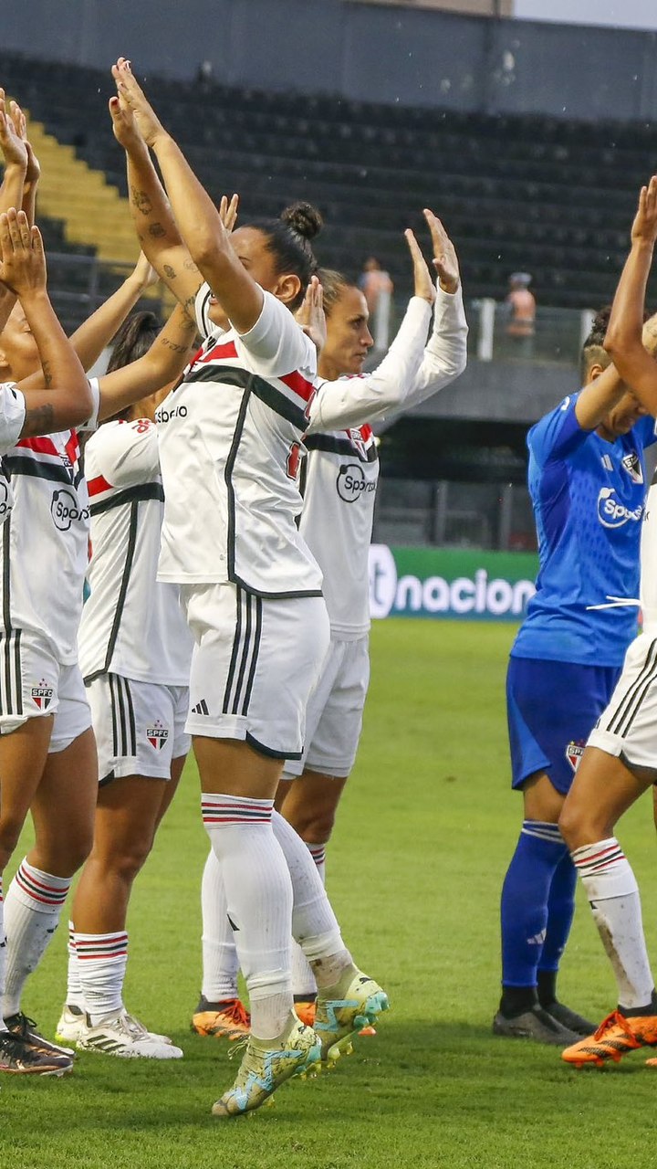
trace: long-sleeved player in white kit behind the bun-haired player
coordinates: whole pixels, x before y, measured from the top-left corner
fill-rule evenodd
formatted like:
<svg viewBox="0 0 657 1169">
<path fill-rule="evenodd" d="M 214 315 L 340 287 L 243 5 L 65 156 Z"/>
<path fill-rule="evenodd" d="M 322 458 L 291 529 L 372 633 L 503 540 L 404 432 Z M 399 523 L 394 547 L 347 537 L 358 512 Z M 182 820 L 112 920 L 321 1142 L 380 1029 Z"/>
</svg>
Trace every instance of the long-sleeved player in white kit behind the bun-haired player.
<svg viewBox="0 0 657 1169">
<path fill-rule="evenodd" d="M 447 386 L 465 367 L 468 325 L 451 241 L 431 212 L 424 212 L 431 231 L 438 284 L 434 292 L 429 271 L 415 237 L 408 233 L 415 296 L 385 361 L 362 374 L 372 337 L 362 292 L 338 272 L 320 272 L 326 310 L 326 343 L 319 358 L 318 400 L 338 383 L 360 400 L 369 397 L 369 417 L 409 409 Z M 427 345 L 426 328 L 415 330 L 422 300 L 436 297 L 434 326 Z M 416 362 L 412 375 L 409 360 Z M 419 364 L 421 362 L 421 364 Z M 350 381 L 350 378 L 358 381 Z M 324 880 L 325 850 L 340 795 L 352 770 L 362 725 L 369 676 L 368 549 L 372 537 L 379 457 L 372 428 L 319 431 L 304 437 L 304 503 L 299 531 L 318 561 L 331 622 L 331 645 L 319 682 L 306 710 L 306 746 L 302 759 L 286 761 L 276 805 L 292 824 Z M 298 779 L 295 779 L 298 776 Z M 237 970 L 226 913 L 221 873 L 210 855 L 203 872 L 203 982 L 192 1025 L 202 1035 L 236 1037 L 234 1003 Z M 216 926 L 220 934 L 215 934 Z M 293 948 L 295 1010 L 312 1025 L 317 988 L 299 947 Z"/>
</svg>

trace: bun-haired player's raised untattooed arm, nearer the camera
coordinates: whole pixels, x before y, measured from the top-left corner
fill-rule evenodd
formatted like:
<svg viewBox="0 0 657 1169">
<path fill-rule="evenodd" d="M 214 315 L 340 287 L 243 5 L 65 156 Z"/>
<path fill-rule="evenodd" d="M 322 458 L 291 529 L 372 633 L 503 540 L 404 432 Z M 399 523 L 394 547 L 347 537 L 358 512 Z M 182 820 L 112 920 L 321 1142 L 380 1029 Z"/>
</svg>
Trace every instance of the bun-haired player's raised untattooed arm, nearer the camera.
<svg viewBox="0 0 657 1169">
<path fill-rule="evenodd" d="M 192 260 L 237 332 L 248 333 L 262 311 L 262 289 L 236 255 L 230 234 L 207 191 L 146 101 L 132 76 L 130 62 L 119 57 L 112 74 L 119 97 L 130 105 L 146 145 L 155 154 L 175 223 Z"/>
</svg>

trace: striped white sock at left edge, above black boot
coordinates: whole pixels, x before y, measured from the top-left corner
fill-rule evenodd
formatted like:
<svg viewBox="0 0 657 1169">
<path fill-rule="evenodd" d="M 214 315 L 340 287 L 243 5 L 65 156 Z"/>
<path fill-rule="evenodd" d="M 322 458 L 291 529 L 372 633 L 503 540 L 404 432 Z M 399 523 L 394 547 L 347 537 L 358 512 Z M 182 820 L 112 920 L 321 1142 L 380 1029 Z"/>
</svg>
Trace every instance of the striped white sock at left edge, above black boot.
<svg viewBox="0 0 657 1169">
<path fill-rule="evenodd" d="M 70 883 L 70 877 L 54 877 L 22 860 L 9 885 L 5 898 L 5 1018 L 20 1010 L 27 976 L 39 966 L 57 928 Z"/>
</svg>

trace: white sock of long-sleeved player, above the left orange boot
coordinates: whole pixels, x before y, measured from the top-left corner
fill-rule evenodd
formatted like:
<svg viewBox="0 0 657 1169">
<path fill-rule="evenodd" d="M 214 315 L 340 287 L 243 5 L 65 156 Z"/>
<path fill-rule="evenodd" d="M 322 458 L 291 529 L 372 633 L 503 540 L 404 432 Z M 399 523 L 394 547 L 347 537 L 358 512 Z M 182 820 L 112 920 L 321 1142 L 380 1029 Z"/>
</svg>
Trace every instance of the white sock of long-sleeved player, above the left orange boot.
<svg viewBox="0 0 657 1169">
<path fill-rule="evenodd" d="M 213 849 L 208 852 L 201 883 L 203 935 L 203 982 L 201 994 L 208 1003 L 222 1003 L 237 997 L 237 950 L 228 920 L 226 887 L 221 865 Z"/>
</svg>

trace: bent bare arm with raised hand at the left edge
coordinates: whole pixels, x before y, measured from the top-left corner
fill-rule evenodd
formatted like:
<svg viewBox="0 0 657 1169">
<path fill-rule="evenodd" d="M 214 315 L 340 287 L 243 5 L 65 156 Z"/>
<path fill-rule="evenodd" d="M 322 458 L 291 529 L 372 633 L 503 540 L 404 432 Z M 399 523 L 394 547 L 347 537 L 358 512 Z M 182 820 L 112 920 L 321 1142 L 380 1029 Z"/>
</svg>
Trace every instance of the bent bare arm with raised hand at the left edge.
<svg viewBox="0 0 657 1169">
<path fill-rule="evenodd" d="M 25 212 L 9 208 L 0 215 L 0 279 L 21 302 L 33 332 L 46 389 L 19 383 L 26 403 L 21 435 L 42 435 L 78 426 L 92 408 L 84 371 L 60 321 L 46 288 L 46 256 L 39 228 Z"/>
</svg>

